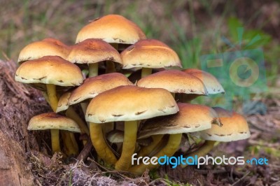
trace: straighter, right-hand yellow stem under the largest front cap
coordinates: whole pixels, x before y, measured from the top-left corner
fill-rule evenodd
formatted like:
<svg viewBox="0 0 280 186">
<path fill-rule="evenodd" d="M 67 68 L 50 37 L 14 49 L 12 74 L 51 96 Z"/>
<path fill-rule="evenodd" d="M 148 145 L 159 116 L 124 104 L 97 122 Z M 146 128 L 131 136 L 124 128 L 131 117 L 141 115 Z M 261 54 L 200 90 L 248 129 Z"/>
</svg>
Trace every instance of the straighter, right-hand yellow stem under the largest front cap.
<svg viewBox="0 0 280 186">
<path fill-rule="evenodd" d="M 117 170 L 127 171 L 131 166 L 132 155 L 137 139 L 137 121 L 125 121 L 125 136 L 123 139 L 123 151 L 116 162 Z"/>
</svg>

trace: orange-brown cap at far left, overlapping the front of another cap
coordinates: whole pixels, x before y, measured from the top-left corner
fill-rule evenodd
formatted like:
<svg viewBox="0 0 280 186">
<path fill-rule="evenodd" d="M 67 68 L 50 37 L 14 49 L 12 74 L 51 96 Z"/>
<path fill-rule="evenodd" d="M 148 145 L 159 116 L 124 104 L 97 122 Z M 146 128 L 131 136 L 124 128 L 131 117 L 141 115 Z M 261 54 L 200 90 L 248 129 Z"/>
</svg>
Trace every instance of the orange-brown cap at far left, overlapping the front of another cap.
<svg viewBox="0 0 280 186">
<path fill-rule="evenodd" d="M 73 87 L 83 83 L 83 74 L 78 66 L 61 57 L 45 56 L 20 65 L 15 72 L 15 80 Z"/>
</svg>

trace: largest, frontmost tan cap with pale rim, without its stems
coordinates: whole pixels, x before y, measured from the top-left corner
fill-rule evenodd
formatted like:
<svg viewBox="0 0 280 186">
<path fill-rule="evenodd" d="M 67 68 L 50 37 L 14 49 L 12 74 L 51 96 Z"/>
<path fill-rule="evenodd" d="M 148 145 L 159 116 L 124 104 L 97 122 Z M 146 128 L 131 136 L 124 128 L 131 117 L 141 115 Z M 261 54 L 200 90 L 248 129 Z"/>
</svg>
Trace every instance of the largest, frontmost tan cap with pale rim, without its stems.
<svg viewBox="0 0 280 186">
<path fill-rule="evenodd" d="M 85 120 L 94 123 L 144 120 L 178 111 L 167 90 L 120 86 L 94 97 L 87 106 Z"/>
</svg>

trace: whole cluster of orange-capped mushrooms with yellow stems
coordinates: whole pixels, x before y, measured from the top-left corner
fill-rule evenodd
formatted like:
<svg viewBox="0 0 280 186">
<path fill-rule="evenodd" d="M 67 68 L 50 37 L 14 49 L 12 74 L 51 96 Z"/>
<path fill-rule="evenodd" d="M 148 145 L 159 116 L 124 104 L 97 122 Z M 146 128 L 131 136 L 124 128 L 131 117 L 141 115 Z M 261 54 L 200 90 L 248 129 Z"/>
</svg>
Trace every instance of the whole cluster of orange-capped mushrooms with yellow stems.
<svg viewBox="0 0 280 186">
<path fill-rule="evenodd" d="M 71 46 L 55 38 L 30 43 L 18 64 L 15 80 L 41 90 L 53 110 L 32 117 L 27 129 L 50 129 L 52 152 L 64 157 L 78 155 L 91 140 L 106 166 L 141 175 L 157 165 L 132 166 L 135 152 L 170 157 L 183 134 L 205 140 L 187 156 L 206 155 L 215 141 L 250 136 L 241 115 L 190 103 L 197 96 L 224 93 L 214 76 L 181 70 L 172 48 L 147 39 L 121 15 L 91 21 Z M 85 135 L 90 138 L 80 138 Z"/>
</svg>

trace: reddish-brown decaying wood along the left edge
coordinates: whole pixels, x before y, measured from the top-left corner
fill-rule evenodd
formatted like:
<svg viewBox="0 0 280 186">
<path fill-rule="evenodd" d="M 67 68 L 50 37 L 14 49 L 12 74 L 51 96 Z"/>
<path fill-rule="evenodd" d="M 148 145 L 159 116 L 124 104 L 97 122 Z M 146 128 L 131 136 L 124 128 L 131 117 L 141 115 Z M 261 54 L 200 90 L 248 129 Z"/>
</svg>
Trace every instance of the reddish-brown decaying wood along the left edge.
<svg viewBox="0 0 280 186">
<path fill-rule="evenodd" d="M 0 185 L 33 185 L 25 153 L 46 151 L 48 133 L 27 131 L 27 124 L 49 107 L 40 92 L 15 82 L 15 69 L 0 60 Z"/>
</svg>

